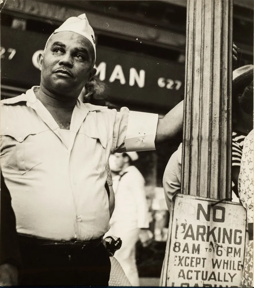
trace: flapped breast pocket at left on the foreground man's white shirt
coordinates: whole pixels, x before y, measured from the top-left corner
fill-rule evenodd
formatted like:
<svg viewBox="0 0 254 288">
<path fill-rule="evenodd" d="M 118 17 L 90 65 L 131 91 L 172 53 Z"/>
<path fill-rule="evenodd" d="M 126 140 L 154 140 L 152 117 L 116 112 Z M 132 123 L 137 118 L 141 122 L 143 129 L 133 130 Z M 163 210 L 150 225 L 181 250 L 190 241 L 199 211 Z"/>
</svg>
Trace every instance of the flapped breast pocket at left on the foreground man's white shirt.
<svg viewBox="0 0 254 288">
<path fill-rule="evenodd" d="M 37 133 L 10 132 L 2 137 L 5 137 L 4 142 L 7 144 L 6 149 L 9 150 L 7 152 L 10 155 L 6 159 L 6 164 L 20 174 L 23 175 L 42 163 Z"/>
</svg>

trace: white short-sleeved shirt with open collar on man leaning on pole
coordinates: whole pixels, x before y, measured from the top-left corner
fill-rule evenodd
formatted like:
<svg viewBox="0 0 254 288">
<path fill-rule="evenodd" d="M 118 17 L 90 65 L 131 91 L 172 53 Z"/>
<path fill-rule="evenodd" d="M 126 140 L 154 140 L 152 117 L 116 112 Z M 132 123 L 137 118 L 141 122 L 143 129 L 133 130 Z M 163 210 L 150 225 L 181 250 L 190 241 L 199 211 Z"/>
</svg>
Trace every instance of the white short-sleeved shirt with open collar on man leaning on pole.
<svg viewBox="0 0 254 288">
<path fill-rule="evenodd" d="M 1 170 L 17 230 L 55 240 L 98 238 L 109 229 L 109 155 L 154 149 L 158 115 L 78 100 L 62 137 L 35 89 L 1 101 Z"/>
</svg>

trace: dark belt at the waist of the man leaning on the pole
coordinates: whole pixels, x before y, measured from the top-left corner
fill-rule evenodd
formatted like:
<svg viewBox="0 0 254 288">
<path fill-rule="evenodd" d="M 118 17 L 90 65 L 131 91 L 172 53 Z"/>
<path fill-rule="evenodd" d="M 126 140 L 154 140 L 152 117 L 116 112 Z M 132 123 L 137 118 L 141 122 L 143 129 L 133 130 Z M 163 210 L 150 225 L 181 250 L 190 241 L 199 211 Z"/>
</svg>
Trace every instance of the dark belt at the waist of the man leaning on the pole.
<svg viewBox="0 0 254 288">
<path fill-rule="evenodd" d="M 19 234 L 19 239 L 21 243 L 34 244 L 43 247 L 84 249 L 99 246 L 102 243 L 103 236 L 89 241 L 77 241 L 76 239 L 66 241 L 43 239 L 31 235 Z"/>
</svg>

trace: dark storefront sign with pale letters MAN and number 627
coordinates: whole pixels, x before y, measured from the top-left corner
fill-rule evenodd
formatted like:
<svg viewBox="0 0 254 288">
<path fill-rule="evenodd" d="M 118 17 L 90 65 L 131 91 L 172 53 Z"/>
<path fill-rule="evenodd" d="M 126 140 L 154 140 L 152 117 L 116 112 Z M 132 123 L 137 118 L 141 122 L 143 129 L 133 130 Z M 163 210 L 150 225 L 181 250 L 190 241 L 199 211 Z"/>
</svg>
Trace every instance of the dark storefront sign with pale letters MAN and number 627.
<svg viewBox="0 0 254 288">
<path fill-rule="evenodd" d="M 47 39 L 48 35 L 1 27 L 2 84 L 39 85 L 37 59 Z M 95 67 L 109 86 L 109 100 L 170 109 L 183 99 L 183 64 L 98 46 Z"/>
</svg>

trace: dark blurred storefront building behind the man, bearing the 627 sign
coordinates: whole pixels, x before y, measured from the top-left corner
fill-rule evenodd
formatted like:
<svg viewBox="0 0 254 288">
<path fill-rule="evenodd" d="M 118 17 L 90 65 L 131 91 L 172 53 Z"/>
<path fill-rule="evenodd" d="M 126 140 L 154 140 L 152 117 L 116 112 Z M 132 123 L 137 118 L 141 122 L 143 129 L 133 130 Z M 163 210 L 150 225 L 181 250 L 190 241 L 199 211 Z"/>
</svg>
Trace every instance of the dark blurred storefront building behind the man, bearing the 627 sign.
<svg viewBox="0 0 254 288">
<path fill-rule="evenodd" d="M 7 0 L 1 7 L 2 99 L 39 85 L 39 51 L 63 21 L 82 13 L 94 28 L 97 75 L 109 87 L 112 107 L 163 116 L 183 99 L 185 0 Z M 234 1 L 233 40 L 238 66 L 253 64 L 253 0 Z M 149 250 L 138 246 L 141 276 L 160 276 L 169 217 L 162 177 L 181 140 L 179 135 L 156 151 L 139 153 L 137 167 L 146 179 L 155 239 Z"/>
</svg>

